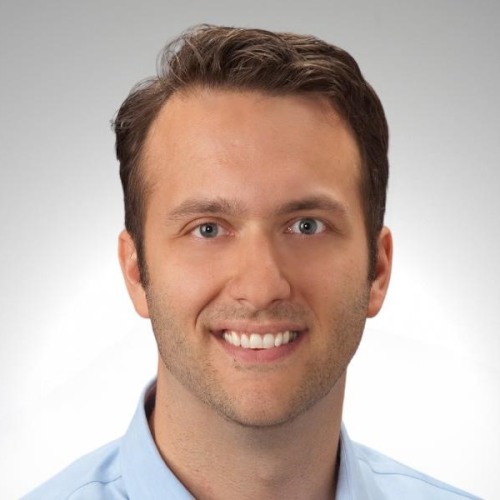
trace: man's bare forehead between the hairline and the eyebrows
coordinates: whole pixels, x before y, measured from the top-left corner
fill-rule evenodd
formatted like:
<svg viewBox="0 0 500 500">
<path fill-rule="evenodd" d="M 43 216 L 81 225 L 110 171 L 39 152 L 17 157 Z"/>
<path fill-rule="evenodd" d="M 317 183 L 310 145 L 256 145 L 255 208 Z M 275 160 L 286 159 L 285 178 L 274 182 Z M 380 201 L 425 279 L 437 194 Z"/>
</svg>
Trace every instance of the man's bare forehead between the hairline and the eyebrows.
<svg viewBox="0 0 500 500">
<path fill-rule="evenodd" d="M 168 186 L 174 199 L 214 185 L 244 189 L 248 199 L 262 197 L 262 189 L 276 196 L 276 185 L 285 196 L 300 190 L 306 177 L 318 185 L 359 184 L 359 152 L 349 127 L 313 94 L 174 94 L 153 122 L 144 153 L 143 176 L 153 195 Z"/>
</svg>

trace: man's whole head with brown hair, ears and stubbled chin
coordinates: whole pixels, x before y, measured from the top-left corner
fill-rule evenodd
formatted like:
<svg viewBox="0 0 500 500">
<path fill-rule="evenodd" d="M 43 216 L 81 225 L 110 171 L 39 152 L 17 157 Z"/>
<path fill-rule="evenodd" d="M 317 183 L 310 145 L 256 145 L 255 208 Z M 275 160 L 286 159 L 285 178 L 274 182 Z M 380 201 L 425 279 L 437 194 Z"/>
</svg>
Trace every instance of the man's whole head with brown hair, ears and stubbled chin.
<svg viewBox="0 0 500 500">
<path fill-rule="evenodd" d="M 160 66 L 116 119 L 120 262 L 156 336 L 158 407 L 339 416 L 390 276 L 378 99 L 345 52 L 291 34 L 202 27 Z"/>
</svg>

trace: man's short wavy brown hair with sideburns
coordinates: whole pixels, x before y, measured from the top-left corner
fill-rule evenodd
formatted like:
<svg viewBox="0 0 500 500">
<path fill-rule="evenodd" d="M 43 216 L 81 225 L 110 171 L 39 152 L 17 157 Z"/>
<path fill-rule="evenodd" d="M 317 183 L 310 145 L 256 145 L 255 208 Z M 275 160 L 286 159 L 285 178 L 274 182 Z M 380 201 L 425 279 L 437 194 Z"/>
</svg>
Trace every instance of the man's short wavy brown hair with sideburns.
<svg viewBox="0 0 500 500">
<path fill-rule="evenodd" d="M 373 278 L 377 236 L 385 213 L 389 133 L 382 104 L 356 61 L 344 50 L 312 36 L 201 25 L 163 49 L 158 76 L 132 89 L 113 124 L 125 227 L 137 247 L 143 282 L 147 283 L 143 223 L 149 189 L 140 172 L 143 145 L 168 98 L 194 86 L 271 94 L 316 93 L 328 98 L 350 126 L 359 147 L 360 188 Z"/>
</svg>

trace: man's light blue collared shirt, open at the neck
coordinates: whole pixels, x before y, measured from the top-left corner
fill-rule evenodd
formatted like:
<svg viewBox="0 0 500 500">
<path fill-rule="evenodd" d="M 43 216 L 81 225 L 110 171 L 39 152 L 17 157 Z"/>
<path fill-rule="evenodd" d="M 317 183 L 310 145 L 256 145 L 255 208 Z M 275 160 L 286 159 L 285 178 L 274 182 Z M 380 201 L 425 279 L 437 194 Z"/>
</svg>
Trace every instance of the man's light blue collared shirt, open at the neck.
<svg viewBox="0 0 500 500">
<path fill-rule="evenodd" d="M 148 425 L 154 385 L 126 434 L 80 458 L 25 500 L 192 500 L 156 448 Z M 349 439 L 342 426 L 336 500 L 459 500 L 468 493 L 414 471 Z"/>
</svg>

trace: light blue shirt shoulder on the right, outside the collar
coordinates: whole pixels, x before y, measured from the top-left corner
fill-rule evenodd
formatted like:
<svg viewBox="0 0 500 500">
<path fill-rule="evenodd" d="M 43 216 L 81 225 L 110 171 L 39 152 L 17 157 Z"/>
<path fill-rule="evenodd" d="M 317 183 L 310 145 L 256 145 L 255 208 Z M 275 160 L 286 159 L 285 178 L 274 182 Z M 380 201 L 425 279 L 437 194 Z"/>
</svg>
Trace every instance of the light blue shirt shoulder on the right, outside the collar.
<svg viewBox="0 0 500 500">
<path fill-rule="evenodd" d="M 367 446 L 353 443 L 362 474 L 376 482 L 387 499 L 466 500 L 478 497 L 418 472 Z"/>
</svg>

